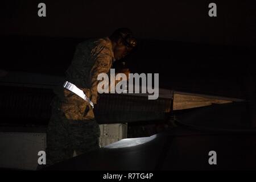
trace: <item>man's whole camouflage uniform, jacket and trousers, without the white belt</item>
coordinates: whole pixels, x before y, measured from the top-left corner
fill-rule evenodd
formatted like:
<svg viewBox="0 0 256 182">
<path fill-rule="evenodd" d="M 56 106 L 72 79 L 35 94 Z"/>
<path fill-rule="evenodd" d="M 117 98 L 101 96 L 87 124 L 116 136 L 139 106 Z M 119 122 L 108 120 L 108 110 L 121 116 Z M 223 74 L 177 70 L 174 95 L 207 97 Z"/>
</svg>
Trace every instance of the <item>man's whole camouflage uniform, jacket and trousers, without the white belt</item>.
<svg viewBox="0 0 256 182">
<path fill-rule="evenodd" d="M 108 73 L 114 61 L 109 38 L 80 43 L 72 64 L 66 72 L 67 81 L 84 91 L 97 103 L 97 76 Z M 51 103 L 52 116 L 47 129 L 47 164 L 57 163 L 99 148 L 100 127 L 94 119 L 92 106 L 62 86 L 55 89 Z"/>
</svg>

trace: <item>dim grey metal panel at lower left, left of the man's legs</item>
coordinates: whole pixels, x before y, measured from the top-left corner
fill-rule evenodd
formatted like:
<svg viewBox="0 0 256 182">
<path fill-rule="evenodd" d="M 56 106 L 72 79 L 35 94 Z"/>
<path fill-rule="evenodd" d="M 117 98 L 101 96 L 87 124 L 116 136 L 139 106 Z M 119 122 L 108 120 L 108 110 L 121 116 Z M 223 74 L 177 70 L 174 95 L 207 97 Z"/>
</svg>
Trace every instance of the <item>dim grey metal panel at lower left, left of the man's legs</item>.
<svg viewBox="0 0 256 182">
<path fill-rule="evenodd" d="M 44 133 L 0 133 L 0 167 L 35 170 L 45 148 Z"/>
</svg>

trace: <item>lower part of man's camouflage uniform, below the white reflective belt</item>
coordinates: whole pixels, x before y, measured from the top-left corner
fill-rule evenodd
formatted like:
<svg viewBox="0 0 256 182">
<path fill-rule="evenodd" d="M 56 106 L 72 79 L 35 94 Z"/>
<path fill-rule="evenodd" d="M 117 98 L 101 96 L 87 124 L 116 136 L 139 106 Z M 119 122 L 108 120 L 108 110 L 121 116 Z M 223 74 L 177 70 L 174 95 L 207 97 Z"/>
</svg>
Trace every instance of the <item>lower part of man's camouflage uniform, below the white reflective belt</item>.
<svg viewBox="0 0 256 182">
<path fill-rule="evenodd" d="M 100 148 L 100 127 L 92 106 L 76 94 L 63 89 L 52 101 L 47 129 L 47 166 Z"/>
</svg>

